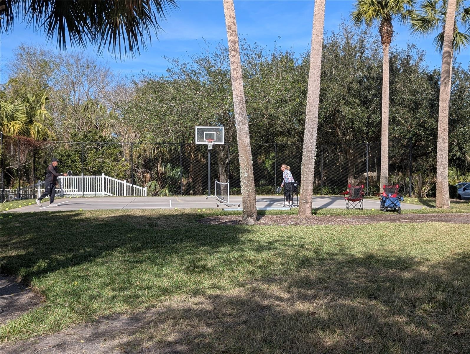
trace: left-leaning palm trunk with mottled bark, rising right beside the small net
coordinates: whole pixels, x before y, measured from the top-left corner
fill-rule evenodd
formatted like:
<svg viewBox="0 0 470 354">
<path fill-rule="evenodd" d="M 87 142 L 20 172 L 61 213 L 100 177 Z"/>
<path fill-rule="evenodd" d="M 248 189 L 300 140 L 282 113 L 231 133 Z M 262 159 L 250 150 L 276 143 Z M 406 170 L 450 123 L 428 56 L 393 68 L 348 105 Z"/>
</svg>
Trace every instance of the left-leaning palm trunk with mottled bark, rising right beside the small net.
<svg viewBox="0 0 470 354">
<path fill-rule="evenodd" d="M 246 115 L 245 94 L 243 92 L 242 60 L 236 28 L 233 0 L 224 0 L 225 24 L 227 26 L 228 57 L 234 97 L 235 127 L 240 161 L 240 185 L 242 187 L 242 222 L 253 224 L 256 221 L 256 192 L 251 157 L 250 131 Z"/>
</svg>

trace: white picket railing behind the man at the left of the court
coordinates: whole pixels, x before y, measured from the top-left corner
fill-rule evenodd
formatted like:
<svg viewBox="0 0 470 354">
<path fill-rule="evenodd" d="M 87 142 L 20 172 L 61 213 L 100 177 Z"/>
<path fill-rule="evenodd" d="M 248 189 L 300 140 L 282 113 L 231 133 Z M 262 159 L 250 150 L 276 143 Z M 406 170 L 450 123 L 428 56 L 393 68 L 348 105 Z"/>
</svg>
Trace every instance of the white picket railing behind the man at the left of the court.
<svg viewBox="0 0 470 354">
<path fill-rule="evenodd" d="M 60 176 L 57 177 L 59 185 L 56 195 L 59 196 L 109 196 L 109 197 L 147 197 L 147 187 L 139 187 L 127 181 L 105 176 Z M 44 193 L 44 181 L 38 181 L 34 186 L 24 187 L 20 190 L 22 199 L 31 199 Z M 35 192 L 35 193 L 34 193 Z M 4 200 L 18 198 L 18 189 L 5 189 Z"/>
</svg>

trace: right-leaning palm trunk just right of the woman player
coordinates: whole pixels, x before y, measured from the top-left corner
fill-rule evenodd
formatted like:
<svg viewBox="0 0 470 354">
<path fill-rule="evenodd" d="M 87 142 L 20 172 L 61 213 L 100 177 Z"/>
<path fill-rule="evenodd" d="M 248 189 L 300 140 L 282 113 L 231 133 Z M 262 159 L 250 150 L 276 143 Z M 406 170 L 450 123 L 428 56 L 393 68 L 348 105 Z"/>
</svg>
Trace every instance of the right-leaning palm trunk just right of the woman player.
<svg viewBox="0 0 470 354">
<path fill-rule="evenodd" d="M 318 107 L 320 103 L 321 49 L 325 22 L 325 0 L 315 0 L 313 10 L 312 46 L 308 73 L 307 108 L 305 113 L 304 147 L 299 215 L 312 215 L 313 173 L 317 145 Z"/>
</svg>

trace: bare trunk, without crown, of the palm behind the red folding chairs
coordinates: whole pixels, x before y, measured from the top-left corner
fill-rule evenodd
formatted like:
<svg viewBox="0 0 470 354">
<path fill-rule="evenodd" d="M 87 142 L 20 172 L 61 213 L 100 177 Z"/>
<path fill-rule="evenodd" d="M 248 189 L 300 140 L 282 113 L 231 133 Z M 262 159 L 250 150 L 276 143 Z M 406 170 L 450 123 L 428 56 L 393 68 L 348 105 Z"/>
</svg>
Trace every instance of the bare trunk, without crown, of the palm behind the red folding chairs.
<svg viewBox="0 0 470 354">
<path fill-rule="evenodd" d="M 382 72 L 382 146 L 381 146 L 381 158 L 380 158 L 380 192 L 384 191 L 384 185 L 388 184 L 388 105 L 389 105 L 389 93 L 388 93 L 388 81 L 389 81 L 389 69 L 388 69 L 388 50 L 390 44 L 383 43 L 382 48 L 384 51 L 384 62 Z"/>
</svg>

